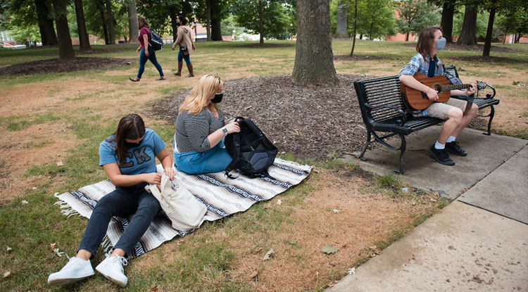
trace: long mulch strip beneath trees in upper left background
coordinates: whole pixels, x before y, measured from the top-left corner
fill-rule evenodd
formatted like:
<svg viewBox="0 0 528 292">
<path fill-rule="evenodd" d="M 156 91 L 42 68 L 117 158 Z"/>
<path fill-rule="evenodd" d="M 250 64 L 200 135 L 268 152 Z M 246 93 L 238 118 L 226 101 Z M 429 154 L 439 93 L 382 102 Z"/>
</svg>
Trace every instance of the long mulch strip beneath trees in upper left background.
<svg viewBox="0 0 528 292">
<path fill-rule="evenodd" d="M 20 63 L 1 68 L 0 75 L 33 75 L 39 73 L 75 72 L 91 69 L 110 69 L 132 65 L 137 60 L 123 58 L 77 57 L 71 60 L 58 58 Z"/>
</svg>

